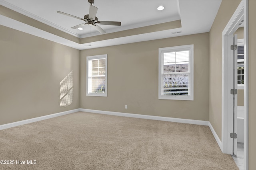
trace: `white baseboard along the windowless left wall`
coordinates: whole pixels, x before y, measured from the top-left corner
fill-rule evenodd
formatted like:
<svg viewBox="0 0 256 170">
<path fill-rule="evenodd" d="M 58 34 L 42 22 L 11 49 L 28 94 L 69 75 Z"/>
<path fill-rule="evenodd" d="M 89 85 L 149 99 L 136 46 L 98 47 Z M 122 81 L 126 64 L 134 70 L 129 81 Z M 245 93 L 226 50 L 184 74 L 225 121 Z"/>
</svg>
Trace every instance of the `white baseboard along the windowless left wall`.
<svg viewBox="0 0 256 170">
<path fill-rule="evenodd" d="M 63 112 L 60 112 L 60 113 L 54 113 L 54 114 L 51 114 L 51 115 L 45 115 L 45 116 L 41 116 L 41 117 L 35 117 L 35 118 L 32 118 L 32 119 L 26 119 L 26 120 L 22 120 L 22 121 L 16 121 L 16 122 L 13 122 L 13 123 L 7 123 L 7 124 L 4 124 L 4 125 L 0 125 L 0 130 L 7 129 L 7 128 L 10 128 L 10 127 L 19 126 L 19 125 L 25 125 L 25 124 L 28 124 L 28 123 L 33 123 L 33 122 L 41 121 L 41 120 L 45 120 L 45 119 L 50 119 L 50 118 L 53 118 L 53 117 L 67 115 L 67 114 L 75 113 L 75 112 L 78 112 L 78 111 L 80 111 L 80 109 L 68 110 L 68 111 L 63 111 Z"/>
</svg>

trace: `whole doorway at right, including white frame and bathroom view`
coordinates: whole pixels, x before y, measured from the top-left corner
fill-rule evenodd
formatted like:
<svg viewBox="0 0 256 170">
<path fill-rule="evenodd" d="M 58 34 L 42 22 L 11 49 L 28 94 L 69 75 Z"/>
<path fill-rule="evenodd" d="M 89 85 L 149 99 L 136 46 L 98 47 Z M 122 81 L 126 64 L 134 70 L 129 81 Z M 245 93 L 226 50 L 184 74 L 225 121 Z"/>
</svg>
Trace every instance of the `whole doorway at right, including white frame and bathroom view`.
<svg viewBox="0 0 256 170">
<path fill-rule="evenodd" d="M 231 154 L 234 158 L 243 158 L 244 164 L 240 168 L 244 170 L 248 169 L 247 9 L 248 1 L 242 0 L 222 32 L 222 152 Z M 244 47 L 243 64 L 242 55 L 238 54 L 237 47 L 233 46 L 233 35 L 238 34 L 238 31 L 241 31 L 243 36 L 238 36 L 239 43 L 235 44 L 240 46 L 239 49 Z M 243 45 L 241 39 L 244 41 Z M 238 55 L 238 59 L 235 55 Z"/>
</svg>

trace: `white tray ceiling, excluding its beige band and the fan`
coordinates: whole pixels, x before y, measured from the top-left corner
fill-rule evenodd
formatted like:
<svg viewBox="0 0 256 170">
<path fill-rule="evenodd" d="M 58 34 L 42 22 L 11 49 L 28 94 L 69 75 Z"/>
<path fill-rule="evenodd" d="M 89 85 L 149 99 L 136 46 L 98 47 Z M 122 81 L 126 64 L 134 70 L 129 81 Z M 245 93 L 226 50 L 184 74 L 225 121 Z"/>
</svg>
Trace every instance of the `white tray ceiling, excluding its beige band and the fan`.
<svg viewBox="0 0 256 170">
<path fill-rule="evenodd" d="M 120 21 L 121 26 L 100 25 L 106 33 L 113 33 L 148 25 L 181 20 L 182 27 L 153 33 L 131 35 L 115 39 L 78 44 L 38 28 L 12 20 L 0 15 L 0 24 L 24 31 L 38 37 L 49 39 L 76 49 L 104 47 L 106 44 L 118 45 L 152 39 L 209 32 L 222 0 L 94 0 L 98 8 L 97 17 L 102 21 Z M 85 25 L 83 30 L 71 29 L 83 23 L 57 11 L 65 12 L 80 18 L 89 13 L 88 0 L 0 0 L 0 5 L 10 8 L 25 16 L 50 25 L 78 38 L 100 35 L 93 27 Z M 158 11 L 159 5 L 164 10 Z M 182 31 L 179 34 L 172 34 Z"/>
</svg>

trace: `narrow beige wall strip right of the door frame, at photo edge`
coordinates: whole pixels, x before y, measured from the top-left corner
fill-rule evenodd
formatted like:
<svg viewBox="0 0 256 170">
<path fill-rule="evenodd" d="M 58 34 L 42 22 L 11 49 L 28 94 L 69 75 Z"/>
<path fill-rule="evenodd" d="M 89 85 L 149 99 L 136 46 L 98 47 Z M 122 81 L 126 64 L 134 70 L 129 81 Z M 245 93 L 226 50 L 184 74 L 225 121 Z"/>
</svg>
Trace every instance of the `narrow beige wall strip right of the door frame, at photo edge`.
<svg viewBox="0 0 256 170">
<path fill-rule="evenodd" d="M 256 167 L 256 1 L 249 0 L 249 170 Z"/>
</svg>

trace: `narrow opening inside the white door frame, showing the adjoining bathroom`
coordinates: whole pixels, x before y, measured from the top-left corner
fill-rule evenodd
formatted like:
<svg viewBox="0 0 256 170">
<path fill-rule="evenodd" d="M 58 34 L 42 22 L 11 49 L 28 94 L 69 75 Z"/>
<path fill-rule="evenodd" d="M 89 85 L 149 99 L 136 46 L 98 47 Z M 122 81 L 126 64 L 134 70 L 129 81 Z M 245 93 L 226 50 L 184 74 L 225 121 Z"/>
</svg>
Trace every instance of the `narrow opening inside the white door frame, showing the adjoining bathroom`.
<svg viewBox="0 0 256 170">
<path fill-rule="evenodd" d="M 234 100 L 233 126 L 236 125 L 236 140 L 233 139 L 233 154 L 232 158 L 236 162 L 240 170 L 244 170 L 244 24 L 243 20 L 240 27 L 233 34 L 234 44 L 237 45 L 234 50 L 234 89 L 237 89 L 237 94 Z M 234 142 L 236 142 L 234 145 Z"/>
</svg>

